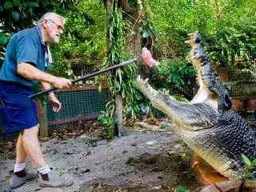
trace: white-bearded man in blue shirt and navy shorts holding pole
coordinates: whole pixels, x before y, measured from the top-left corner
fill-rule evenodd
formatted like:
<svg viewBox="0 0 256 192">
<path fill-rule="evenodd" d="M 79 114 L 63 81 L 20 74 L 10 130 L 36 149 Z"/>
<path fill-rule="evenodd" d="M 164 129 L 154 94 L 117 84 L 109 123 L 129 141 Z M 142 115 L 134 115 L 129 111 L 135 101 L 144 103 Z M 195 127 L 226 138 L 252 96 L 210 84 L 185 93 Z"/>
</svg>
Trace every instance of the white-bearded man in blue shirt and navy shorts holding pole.
<svg viewBox="0 0 256 192">
<path fill-rule="evenodd" d="M 71 179 L 58 176 L 45 161 L 38 142 L 38 116 L 32 86 L 41 83 L 42 89 L 54 86 L 58 89 L 71 86 L 66 78 L 47 74 L 51 55 L 50 42 L 58 43 L 66 20 L 61 15 L 47 13 L 34 27 L 19 31 L 10 38 L 6 57 L 0 71 L 0 117 L 5 133 L 19 131 L 16 144 L 14 173 L 10 174 L 10 188 L 16 189 L 26 182 L 38 178 L 38 174 L 26 172 L 26 158 L 29 156 L 38 168 L 39 185 L 62 187 L 73 184 Z M 61 109 L 61 103 L 54 93 L 48 95 L 54 112 Z"/>
</svg>

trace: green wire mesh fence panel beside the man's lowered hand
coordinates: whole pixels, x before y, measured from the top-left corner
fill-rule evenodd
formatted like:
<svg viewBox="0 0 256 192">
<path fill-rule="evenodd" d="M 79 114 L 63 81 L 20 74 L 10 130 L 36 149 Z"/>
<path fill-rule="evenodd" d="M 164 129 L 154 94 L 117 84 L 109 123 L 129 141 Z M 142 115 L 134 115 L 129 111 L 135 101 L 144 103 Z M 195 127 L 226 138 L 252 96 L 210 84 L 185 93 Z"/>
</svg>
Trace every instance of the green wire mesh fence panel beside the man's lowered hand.
<svg viewBox="0 0 256 192">
<path fill-rule="evenodd" d="M 56 93 L 62 102 L 62 110 L 54 113 L 50 102 L 46 102 L 48 126 L 50 128 L 63 125 L 76 125 L 98 118 L 101 110 L 106 109 L 109 91 L 106 86 L 98 90 L 98 86 L 74 86 Z"/>
</svg>

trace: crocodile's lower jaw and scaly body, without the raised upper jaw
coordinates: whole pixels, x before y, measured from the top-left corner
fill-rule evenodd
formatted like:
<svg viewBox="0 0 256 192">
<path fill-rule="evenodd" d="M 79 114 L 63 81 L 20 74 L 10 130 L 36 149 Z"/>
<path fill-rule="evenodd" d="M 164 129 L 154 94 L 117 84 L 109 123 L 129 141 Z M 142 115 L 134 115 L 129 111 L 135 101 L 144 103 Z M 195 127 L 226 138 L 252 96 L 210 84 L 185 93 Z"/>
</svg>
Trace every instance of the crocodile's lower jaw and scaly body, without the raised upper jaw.
<svg viewBox="0 0 256 192">
<path fill-rule="evenodd" d="M 140 77 L 137 83 L 152 105 L 173 119 L 184 142 L 226 178 L 238 178 L 238 172 L 245 171 L 241 154 L 256 157 L 255 134 L 233 110 L 220 115 L 203 103 L 178 102 Z"/>
</svg>

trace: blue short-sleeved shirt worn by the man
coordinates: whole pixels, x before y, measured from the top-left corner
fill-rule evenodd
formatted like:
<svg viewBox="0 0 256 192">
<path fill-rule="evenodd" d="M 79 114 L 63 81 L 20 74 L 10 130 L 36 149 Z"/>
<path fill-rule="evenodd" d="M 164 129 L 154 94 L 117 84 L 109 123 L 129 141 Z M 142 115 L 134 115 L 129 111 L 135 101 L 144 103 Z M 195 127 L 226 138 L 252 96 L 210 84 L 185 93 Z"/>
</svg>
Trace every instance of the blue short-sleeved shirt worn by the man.
<svg viewBox="0 0 256 192">
<path fill-rule="evenodd" d="M 27 62 L 34 65 L 38 70 L 46 71 L 49 69 L 49 59 L 46 57 L 46 51 L 46 44 L 39 26 L 14 34 L 6 48 L 6 57 L 0 71 L 0 80 L 18 82 L 23 86 L 38 84 L 38 81 L 31 81 L 19 75 L 17 65 Z"/>
</svg>

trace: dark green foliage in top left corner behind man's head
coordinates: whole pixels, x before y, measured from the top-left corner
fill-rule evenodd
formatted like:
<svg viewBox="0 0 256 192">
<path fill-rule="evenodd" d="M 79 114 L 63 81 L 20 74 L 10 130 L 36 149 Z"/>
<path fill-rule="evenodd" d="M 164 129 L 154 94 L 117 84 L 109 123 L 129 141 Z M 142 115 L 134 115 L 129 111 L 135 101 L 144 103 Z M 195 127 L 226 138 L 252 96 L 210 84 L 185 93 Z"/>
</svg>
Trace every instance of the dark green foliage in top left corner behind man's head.
<svg viewBox="0 0 256 192">
<path fill-rule="evenodd" d="M 12 34 L 31 27 L 33 20 L 38 20 L 46 12 L 64 14 L 75 10 L 76 0 L 7 0 L 0 1 L 0 61 L 3 60 L 7 42 Z"/>
</svg>

